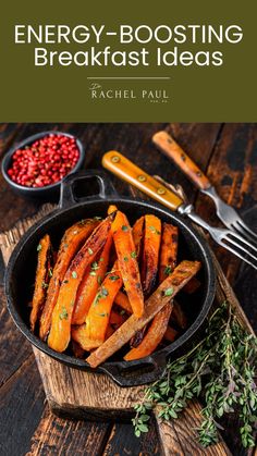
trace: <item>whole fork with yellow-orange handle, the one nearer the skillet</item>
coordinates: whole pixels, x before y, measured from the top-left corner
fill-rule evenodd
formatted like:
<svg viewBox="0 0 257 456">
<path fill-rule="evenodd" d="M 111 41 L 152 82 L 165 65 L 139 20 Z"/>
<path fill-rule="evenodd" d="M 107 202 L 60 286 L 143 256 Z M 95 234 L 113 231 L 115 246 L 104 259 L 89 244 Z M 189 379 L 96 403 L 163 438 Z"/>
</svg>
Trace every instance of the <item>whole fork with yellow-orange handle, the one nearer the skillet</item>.
<svg viewBox="0 0 257 456">
<path fill-rule="evenodd" d="M 210 226 L 195 212 L 193 205 L 185 204 L 181 196 L 146 174 L 145 171 L 136 167 L 120 152 L 117 150 L 106 152 L 102 157 L 102 165 L 158 202 L 193 220 L 208 231 L 217 244 L 257 269 L 257 247 L 232 230 Z"/>
</svg>

